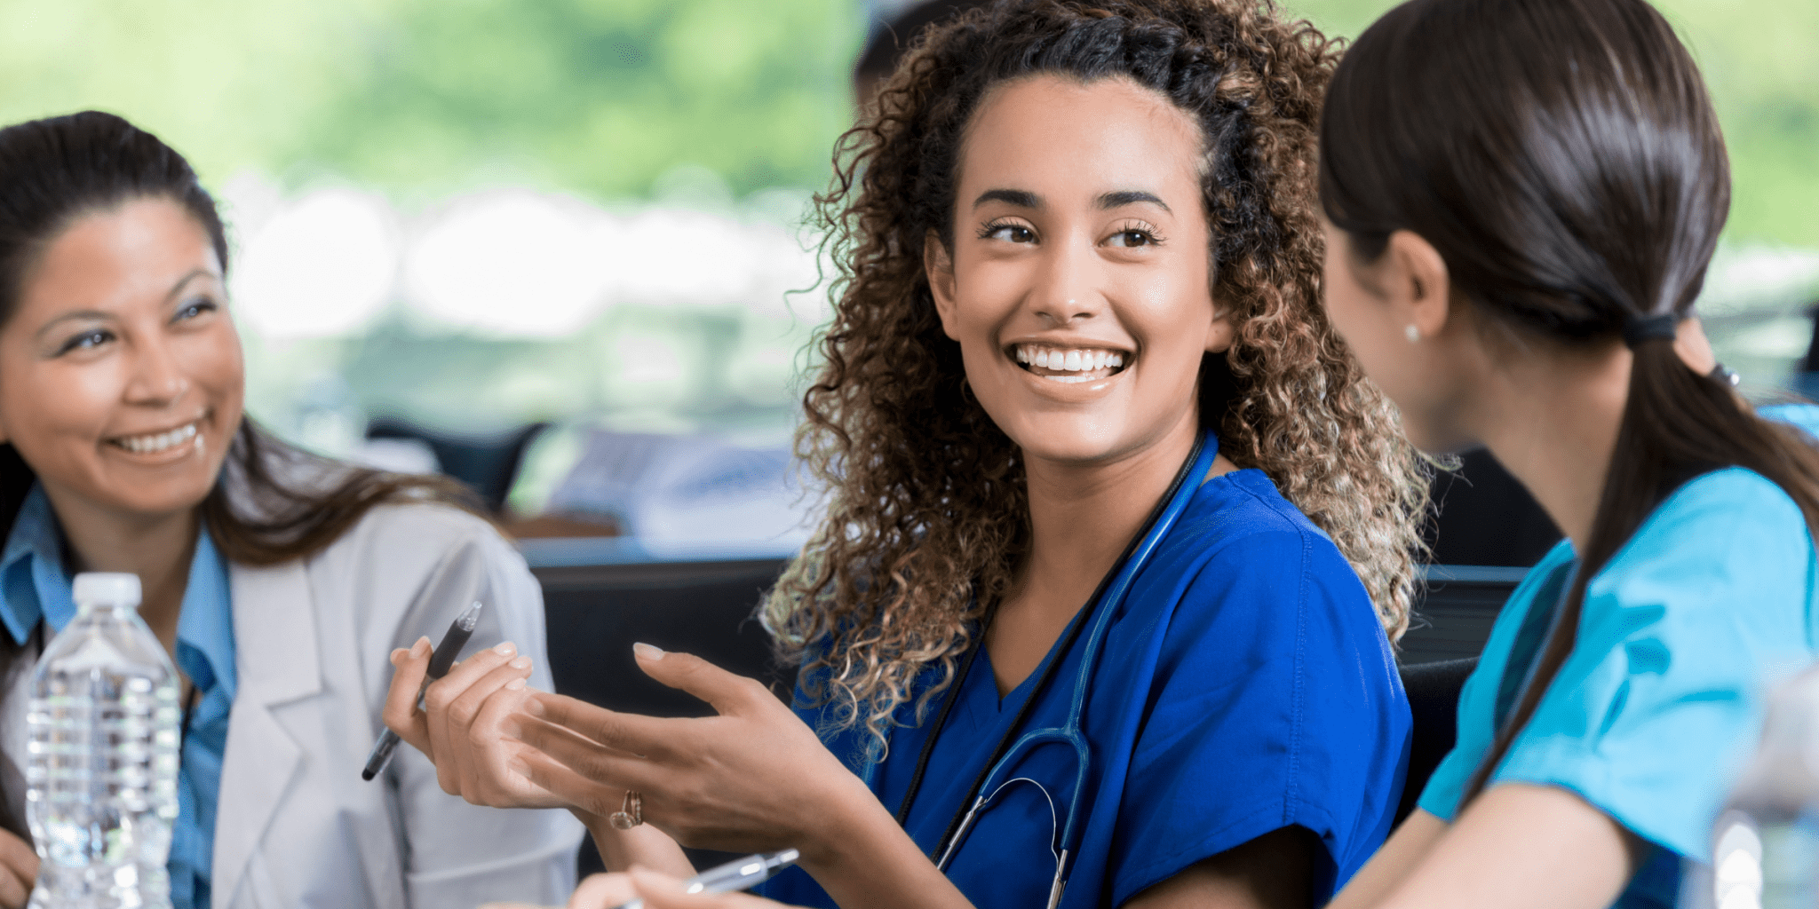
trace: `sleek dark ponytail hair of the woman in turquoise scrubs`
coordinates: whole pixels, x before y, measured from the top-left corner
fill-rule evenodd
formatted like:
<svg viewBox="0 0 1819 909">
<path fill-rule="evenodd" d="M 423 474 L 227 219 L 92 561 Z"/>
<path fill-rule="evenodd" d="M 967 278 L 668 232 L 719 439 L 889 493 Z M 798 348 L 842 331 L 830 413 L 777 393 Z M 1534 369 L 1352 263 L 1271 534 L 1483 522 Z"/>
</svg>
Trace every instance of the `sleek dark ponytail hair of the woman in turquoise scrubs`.
<svg viewBox="0 0 1819 909">
<path fill-rule="evenodd" d="M 1644 318 L 1690 315 L 1730 209 L 1730 164 L 1692 55 L 1646 2 L 1412 0 L 1333 75 L 1321 198 L 1359 258 L 1413 231 L 1493 327 L 1597 347 Z M 1663 335 L 1632 342 L 1617 445 L 1564 613 L 1464 802 L 1572 653 L 1590 578 L 1677 485 L 1748 467 L 1819 529 L 1819 453 L 1688 369 Z"/>
</svg>

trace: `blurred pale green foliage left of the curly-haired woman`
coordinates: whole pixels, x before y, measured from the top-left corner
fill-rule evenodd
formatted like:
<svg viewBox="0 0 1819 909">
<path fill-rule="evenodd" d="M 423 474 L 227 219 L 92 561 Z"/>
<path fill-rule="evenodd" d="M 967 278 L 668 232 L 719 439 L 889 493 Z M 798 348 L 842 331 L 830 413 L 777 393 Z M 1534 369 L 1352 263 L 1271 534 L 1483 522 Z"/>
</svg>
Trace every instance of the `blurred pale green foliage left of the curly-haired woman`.
<svg viewBox="0 0 1819 909">
<path fill-rule="evenodd" d="M 111 109 L 215 182 L 744 195 L 826 180 L 860 38 L 849 0 L 4 0 L 0 120 Z"/>
</svg>

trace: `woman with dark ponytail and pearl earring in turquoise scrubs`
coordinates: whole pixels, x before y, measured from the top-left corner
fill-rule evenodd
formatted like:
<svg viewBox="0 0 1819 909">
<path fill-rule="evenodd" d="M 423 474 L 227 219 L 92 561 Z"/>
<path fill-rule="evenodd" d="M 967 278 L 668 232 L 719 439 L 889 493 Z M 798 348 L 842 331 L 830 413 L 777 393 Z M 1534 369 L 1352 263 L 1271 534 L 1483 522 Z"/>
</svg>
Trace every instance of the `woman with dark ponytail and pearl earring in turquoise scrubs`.
<svg viewBox="0 0 1819 909">
<path fill-rule="evenodd" d="M 1321 196 L 1328 315 L 1410 438 L 1486 445 L 1566 534 L 1333 905 L 1672 905 L 1819 616 L 1819 453 L 1690 318 L 1730 205 L 1692 55 L 1644 0 L 1413 0 L 1333 76 Z"/>
</svg>

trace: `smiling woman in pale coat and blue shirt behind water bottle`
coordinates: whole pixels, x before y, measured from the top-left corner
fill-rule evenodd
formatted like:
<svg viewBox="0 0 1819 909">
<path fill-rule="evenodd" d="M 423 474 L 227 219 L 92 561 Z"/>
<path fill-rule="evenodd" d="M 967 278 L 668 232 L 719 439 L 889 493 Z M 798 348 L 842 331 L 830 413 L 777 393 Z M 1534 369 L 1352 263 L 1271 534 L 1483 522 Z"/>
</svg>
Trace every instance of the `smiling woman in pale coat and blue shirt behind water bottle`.
<svg viewBox="0 0 1819 909">
<path fill-rule="evenodd" d="M 486 604 L 477 647 L 522 642 L 486 653 L 548 682 L 524 560 L 464 487 L 317 458 L 244 416 L 227 240 L 171 147 L 91 111 L 0 129 L 0 905 L 36 873 L 27 680 L 78 571 L 138 574 L 182 680 L 175 907 L 566 894 L 569 816 L 466 805 L 415 753 L 360 780 L 386 654 L 427 651 L 467 604 Z"/>
</svg>

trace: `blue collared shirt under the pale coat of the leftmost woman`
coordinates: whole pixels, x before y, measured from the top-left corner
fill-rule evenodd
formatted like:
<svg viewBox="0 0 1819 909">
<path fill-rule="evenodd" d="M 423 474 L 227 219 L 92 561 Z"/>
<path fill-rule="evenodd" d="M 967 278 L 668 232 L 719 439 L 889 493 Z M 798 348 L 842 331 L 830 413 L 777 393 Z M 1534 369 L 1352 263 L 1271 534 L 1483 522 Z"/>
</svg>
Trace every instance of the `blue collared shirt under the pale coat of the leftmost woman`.
<svg viewBox="0 0 1819 909">
<path fill-rule="evenodd" d="M 5 551 L 0 553 L 0 624 L 24 644 L 44 620 L 62 631 L 76 616 L 56 514 L 42 485 L 18 509 Z M 227 564 L 204 531 L 189 562 L 182 616 L 176 620 L 176 665 L 196 689 L 187 714 L 182 769 L 176 780 L 178 814 L 171 831 L 171 905 L 207 909 L 215 851 L 215 813 L 220 807 L 222 756 L 227 753 L 227 714 L 235 696 L 233 598 Z"/>
</svg>

